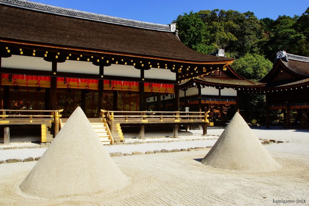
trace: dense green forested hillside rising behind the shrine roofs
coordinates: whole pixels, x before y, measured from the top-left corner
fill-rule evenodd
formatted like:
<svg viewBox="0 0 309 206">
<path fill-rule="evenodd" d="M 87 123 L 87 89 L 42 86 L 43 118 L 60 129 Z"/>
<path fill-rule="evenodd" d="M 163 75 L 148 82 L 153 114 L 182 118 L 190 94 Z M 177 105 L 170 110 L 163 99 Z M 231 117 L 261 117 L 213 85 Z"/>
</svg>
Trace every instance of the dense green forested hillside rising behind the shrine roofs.
<svg viewBox="0 0 309 206">
<path fill-rule="evenodd" d="M 174 23 L 188 47 L 205 54 L 225 49 L 227 57 L 236 58 L 232 68 L 253 81 L 268 73 L 278 51 L 309 57 L 309 7 L 301 16 L 276 20 L 257 19 L 250 11 L 202 10 L 179 15 Z M 240 108 L 247 121 L 264 122 L 265 96 L 243 94 Z"/>
</svg>

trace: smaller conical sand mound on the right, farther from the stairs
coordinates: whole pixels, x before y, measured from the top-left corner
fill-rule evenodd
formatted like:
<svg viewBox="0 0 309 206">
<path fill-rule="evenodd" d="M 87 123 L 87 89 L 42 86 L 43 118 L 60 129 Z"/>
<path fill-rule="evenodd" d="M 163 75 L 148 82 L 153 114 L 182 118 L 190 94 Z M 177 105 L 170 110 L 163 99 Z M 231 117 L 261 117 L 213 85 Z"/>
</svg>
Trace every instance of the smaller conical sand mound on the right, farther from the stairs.
<svg viewBox="0 0 309 206">
<path fill-rule="evenodd" d="M 227 170 L 257 172 L 281 168 L 238 112 L 201 162 Z"/>
</svg>

